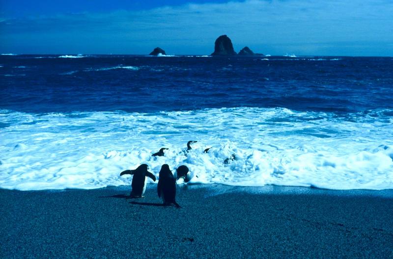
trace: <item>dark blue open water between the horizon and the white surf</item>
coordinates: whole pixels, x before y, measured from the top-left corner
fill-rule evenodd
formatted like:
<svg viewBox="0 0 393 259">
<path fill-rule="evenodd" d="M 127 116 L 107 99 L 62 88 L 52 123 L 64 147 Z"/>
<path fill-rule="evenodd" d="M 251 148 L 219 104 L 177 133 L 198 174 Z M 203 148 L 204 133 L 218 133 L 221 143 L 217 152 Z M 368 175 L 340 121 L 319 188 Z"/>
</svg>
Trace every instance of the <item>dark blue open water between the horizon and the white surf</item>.
<svg viewBox="0 0 393 259">
<path fill-rule="evenodd" d="M 393 108 L 392 57 L 0 56 L 0 108 L 47 113 L 220 107 Z"/>
</svg>

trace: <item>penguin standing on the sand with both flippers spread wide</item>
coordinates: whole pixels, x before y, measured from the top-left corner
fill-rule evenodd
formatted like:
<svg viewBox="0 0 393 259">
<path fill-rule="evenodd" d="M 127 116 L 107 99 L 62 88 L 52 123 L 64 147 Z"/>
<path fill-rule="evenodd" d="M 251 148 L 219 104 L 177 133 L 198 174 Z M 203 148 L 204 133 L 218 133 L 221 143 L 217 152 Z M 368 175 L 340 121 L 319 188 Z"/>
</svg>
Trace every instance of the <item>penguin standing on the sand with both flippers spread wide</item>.
<svg viewBox="0 0 393 259">
<path fill-rule="evenodd" d="M 137 169 L 125 170 L 120 173 L 122 175 L 134 175 L 131 182 L 131 194 L 132 198 L 142 198 L 144 191 L 146 190 L 147 177 L 150 177 L 153 181 L 156 181 L 156 177 L 147 171 L 149 166 L 147 164 L 141 164 Z"/>
</svg>

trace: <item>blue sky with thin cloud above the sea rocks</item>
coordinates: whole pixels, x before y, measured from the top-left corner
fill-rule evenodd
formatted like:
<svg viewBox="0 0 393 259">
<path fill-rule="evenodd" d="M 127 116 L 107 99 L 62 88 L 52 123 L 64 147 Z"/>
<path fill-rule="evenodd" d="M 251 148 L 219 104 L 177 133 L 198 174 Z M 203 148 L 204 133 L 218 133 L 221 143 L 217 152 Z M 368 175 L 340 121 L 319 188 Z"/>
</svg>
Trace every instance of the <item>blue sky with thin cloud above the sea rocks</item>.
<svg viewBox="0 0 393 259">
<path fill-rule="evenodd" d="M 0 0 L 0 53 L 393 56 L 393 0 Z"/>
</svg>

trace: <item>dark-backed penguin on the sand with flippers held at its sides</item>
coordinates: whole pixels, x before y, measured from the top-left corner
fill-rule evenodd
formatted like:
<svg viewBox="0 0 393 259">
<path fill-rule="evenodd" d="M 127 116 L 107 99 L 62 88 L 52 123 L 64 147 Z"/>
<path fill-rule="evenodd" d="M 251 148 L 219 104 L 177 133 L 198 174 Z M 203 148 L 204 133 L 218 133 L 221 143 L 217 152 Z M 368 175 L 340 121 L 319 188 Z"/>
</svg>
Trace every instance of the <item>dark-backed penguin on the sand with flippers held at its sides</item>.
<svg viewBox="0 0 393 259">
<path fill-rule="evenodd" d="M 180 207 L 175 201 L 176 179 L 169 170 L 168 164 L 161 166 L 160 175 L 158 176 L 157 194 L 158 197 L 163 199 L 164 205 L 173 204 L 176 207 Z"/>
</svg>

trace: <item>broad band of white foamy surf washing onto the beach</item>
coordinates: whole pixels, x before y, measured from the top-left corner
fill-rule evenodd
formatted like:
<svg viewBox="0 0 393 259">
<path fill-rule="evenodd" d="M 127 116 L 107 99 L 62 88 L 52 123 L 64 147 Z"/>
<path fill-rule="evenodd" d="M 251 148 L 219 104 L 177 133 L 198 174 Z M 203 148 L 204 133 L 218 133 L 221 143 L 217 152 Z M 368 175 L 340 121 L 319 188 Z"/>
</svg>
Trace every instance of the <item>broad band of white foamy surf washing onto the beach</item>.
<svg viewBox="0 0 393 259">
<path fill-rule="evenodd" d="M 393 188 L 393 118 L 384 112 L 337 116 L 243 107 L 37 115 L 2 110 L 0 187 L 117 186 L 130 184 L 131 176 L 119 176 L 125 169 L 147 163 L 158 176 L 168 163 L 172 170 L 187 165 L 198 176 L 191 183 L 388 189 Z M 189 140 L 198 142 L 185 156 Z M 161 147 L 169 148 L 166 155 L 152 157 Z M 225 164 L 231 154 L 236 159 Z"/>
</svg>

